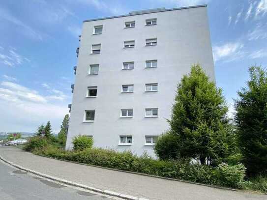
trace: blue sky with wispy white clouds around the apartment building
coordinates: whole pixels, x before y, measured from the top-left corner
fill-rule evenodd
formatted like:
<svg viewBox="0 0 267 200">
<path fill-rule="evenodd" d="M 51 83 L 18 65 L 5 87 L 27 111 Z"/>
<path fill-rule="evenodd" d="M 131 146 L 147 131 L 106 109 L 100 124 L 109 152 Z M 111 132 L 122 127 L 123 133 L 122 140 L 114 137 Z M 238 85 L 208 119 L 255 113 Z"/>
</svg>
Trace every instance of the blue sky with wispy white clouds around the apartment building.
<svg viewBox="0 0 267 200">
<path fill-rule="evenodd" d="M 82 21 L 208 4 L 216 83 L 230 104 L 252 64 L 267 67 L 267 0 L 9 0 L 0 3 L 0 132 L 59 131 L 71 103 Z"/>
</svg>

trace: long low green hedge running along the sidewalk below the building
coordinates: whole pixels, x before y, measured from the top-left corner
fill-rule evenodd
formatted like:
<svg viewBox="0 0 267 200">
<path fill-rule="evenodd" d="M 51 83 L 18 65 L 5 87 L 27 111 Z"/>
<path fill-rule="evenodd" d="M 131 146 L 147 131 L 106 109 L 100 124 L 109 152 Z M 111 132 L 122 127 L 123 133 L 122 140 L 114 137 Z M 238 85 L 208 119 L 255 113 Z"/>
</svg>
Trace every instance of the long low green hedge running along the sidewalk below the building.
<svg viewBox="0 0 267 200">
<path fill-rule="evenodd" d="M 206 165 L 190 164 L 188 160 L 162 161 L 155 160 L 147 155 L 138 157 L 129 151 L 117 152 L 112 149 L 101 148 L 89 148 L 83 151 L 65 151 L 52 145 L 48 145 L 42 149 L 35 149 L 34 153 L 67 161 L 177 178 L 204 184 L 232 188 L 243 188 L 245 184 L 243 179 L 245 168 L 242 164 L 235 166 L 224 164 L 214 168 Z"/>
</svg>

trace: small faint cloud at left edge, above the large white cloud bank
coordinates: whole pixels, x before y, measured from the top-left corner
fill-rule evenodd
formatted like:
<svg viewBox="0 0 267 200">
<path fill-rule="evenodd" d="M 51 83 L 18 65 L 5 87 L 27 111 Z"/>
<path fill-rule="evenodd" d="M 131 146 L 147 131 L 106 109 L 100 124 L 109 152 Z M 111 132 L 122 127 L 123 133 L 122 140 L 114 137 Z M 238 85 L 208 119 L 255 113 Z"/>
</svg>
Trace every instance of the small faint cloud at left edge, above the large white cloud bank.
<svg viewBox="0 0 267 200">
<path fill-rule="evenodd" d="M 30 59 L 18 54 L 15 48 L 10 47 L 7 54 L 0 54 L 0 62 L 10 67 L 21 65 L 25 60 L 30 62 Z"/>
</svg>

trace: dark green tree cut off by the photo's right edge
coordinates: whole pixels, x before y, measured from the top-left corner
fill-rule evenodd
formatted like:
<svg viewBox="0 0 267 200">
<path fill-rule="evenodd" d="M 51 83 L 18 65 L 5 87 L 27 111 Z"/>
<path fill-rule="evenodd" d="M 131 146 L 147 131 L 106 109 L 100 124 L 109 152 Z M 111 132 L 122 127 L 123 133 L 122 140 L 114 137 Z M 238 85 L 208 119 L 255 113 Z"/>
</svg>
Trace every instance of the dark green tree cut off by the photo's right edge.
<svg viewBox="0 0 267 200">
<path fill-rule="evenodd" d="M 249 68 L 247 87 L 235 100 L 237 136 L 249 174 L 267 172 L 267 70 Z"/>
</svg>

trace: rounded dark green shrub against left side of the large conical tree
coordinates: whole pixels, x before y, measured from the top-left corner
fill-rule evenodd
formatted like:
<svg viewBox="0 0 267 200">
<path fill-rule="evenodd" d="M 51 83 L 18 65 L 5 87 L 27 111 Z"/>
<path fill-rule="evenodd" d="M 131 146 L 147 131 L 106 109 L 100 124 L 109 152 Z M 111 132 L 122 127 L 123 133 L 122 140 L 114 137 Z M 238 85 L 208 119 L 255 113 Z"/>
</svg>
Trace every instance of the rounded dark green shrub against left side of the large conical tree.
<svg viewBox="0 0 267 200">
<path fill-rule="evenodd" d="M 155 154 L 162 160 L 178 159 L 179 158 L 179 145 L 178 136 L 166 131 L 158 137 L 155 145 Z"/>
</svg>

